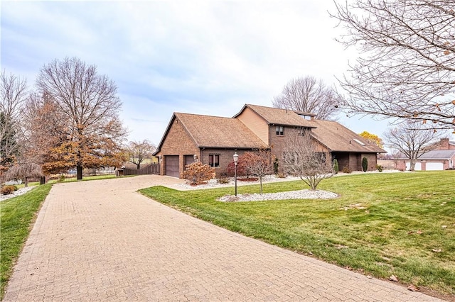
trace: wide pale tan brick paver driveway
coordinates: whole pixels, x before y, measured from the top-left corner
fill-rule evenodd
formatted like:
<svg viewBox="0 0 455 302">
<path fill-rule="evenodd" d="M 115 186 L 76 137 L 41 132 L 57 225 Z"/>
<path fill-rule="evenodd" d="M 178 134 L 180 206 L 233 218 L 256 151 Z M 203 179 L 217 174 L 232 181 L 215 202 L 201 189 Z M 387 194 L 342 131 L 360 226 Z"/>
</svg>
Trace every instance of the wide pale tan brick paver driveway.
<svg viewBox="0 0 455 302">
<path fill-rule="evenodd" d="M 173 181 L 143 176 L 53 186 L 4 301 L 438 301 L 135 192 Z"/>
</svg>

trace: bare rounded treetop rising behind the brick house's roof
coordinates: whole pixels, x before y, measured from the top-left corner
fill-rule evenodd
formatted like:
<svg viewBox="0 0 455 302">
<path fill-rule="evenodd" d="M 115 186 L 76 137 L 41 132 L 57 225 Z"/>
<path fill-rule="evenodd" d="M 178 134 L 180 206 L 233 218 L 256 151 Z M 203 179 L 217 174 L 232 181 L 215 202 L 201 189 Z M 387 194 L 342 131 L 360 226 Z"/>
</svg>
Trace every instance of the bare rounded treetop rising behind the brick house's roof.
<svg viewBox="0 0 455 302">
<path fill-rule="evenodd" d="M 315 113 L 320 120 L 335 120 L 338 113 L 338 97 L 321 79 L 299 77 L 284 86 L 282 94 L 272 104 L 276 108 Z"/>
</svg>

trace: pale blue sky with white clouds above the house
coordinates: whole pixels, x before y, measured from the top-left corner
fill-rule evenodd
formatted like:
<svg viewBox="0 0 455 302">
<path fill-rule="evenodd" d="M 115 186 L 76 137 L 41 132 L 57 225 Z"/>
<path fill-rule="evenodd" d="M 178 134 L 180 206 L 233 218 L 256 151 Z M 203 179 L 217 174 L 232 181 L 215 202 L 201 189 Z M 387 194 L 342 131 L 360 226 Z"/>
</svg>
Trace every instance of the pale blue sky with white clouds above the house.
<svg viewBox="0 0 455 302">
<path fill-rule="evenodd" d="M 1 1 L 1 69 L 31 89 L 43 65 L 78 57 L 117 84 L 129 140 L 158 145 L 173 112 L 232 117 L 272 106 L 290 79 L 328 86 L 356 52 L 331 0 Z M 387 121 L 339 122 L 382 136 Z"/>
</svg>

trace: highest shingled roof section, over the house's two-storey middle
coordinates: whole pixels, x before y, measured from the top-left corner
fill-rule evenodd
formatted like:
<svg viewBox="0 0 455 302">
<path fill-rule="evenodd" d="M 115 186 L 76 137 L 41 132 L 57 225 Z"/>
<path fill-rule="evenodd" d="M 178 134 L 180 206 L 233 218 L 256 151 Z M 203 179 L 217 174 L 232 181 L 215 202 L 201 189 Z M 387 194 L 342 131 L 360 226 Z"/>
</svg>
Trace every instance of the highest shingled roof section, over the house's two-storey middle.
<svg viewBox="0 0 455 302">
<path fill-rule="evenodd" d="M 294 111 L 251 104 L 245 104 L 242 110 L 237 113 L 234 118 L 239 116 L 246 107 L 250 108 L 252 111 L 255 111 L 255 113 L 264 118 L 264 121 L 266 121 L 269 125 L 291 125 L 314 128 L 314 125 L 311 123 L 311 121 L 305 120 L 302 116 L 299 116 L 299 114 L 295 113 Z M 314 114 L 308 114 L 309 116 L 314 116 Z"/>
</svg>

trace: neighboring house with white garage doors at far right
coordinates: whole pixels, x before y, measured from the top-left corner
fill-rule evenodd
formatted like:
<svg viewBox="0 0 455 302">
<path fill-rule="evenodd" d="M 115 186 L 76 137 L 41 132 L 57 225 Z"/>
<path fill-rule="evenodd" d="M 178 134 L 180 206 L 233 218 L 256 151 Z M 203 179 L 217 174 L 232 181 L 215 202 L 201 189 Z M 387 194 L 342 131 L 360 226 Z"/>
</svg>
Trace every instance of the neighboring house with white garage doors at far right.
<svg viewBox="0 0 455 302">
<path fill-rule="evenodd" d="M 409 170 L 410 161 L 401 155 L 395 160 L 396 169 Z M 434 149 L 423 153 L 415 162 L 415 171 L 434 171 L 455 168 L 455 142 L 443 138 Z"/>
</svg>

